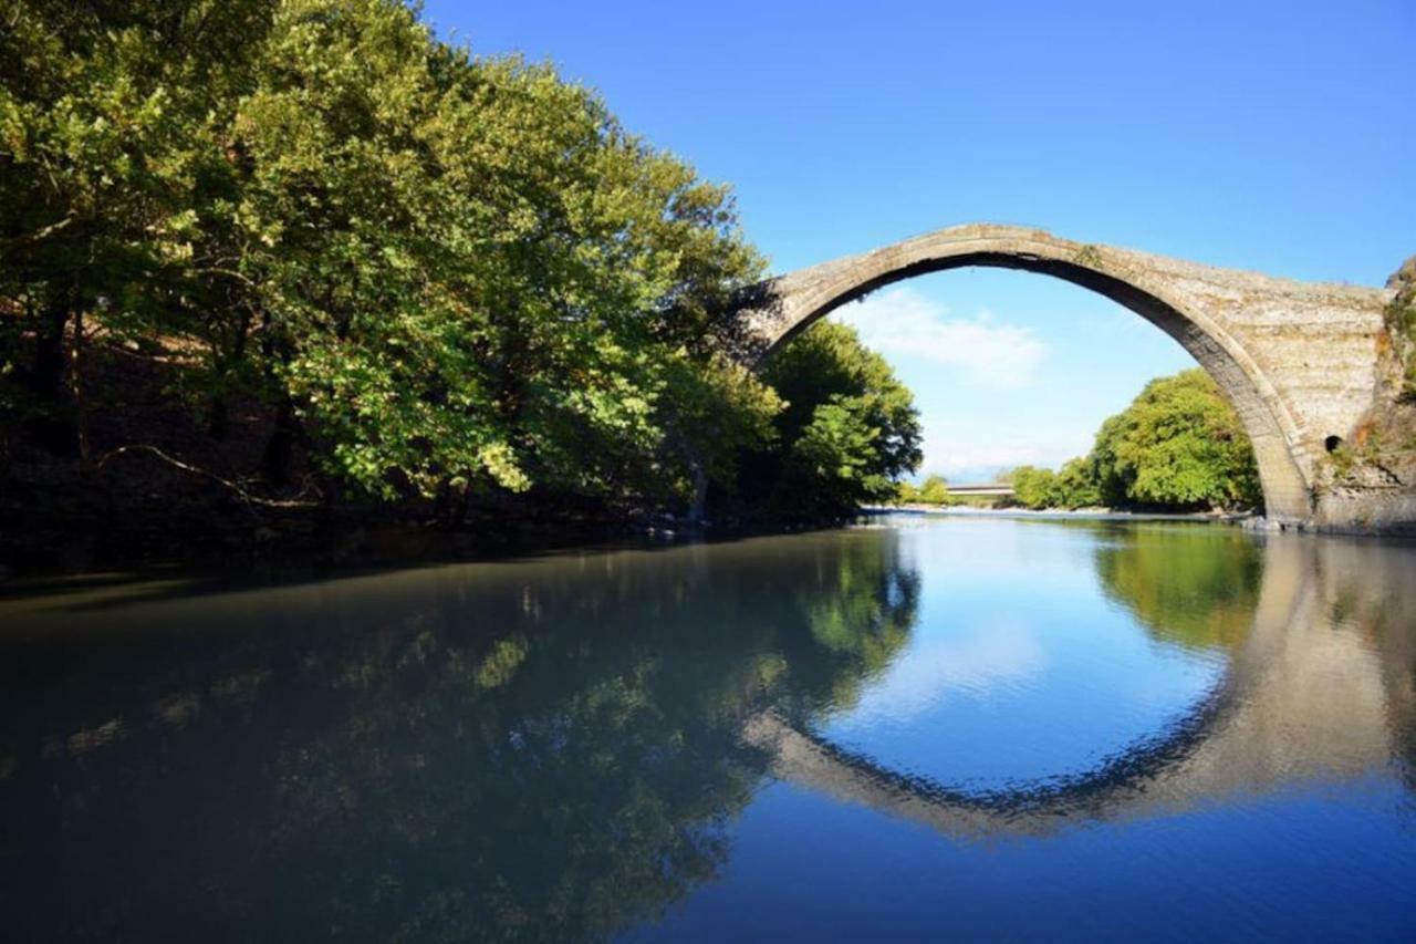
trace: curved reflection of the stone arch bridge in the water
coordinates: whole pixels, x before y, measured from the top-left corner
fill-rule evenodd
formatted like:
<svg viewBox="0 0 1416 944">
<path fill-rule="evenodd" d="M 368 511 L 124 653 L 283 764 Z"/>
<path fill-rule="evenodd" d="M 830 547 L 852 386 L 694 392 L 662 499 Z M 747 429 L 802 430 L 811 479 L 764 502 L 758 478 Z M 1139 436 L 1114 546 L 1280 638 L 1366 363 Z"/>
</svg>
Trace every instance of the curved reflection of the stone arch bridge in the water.
<svg viewBox="0 0 1416 944">
<path fill-rule="evenodd" d="M 1413 679 L 1389 669 L 1410 669 L 1412 653 L 1383 661 L 1378 648 L 1383 635 L 1410 646 L 1403 629 L 1416 618 L 1413 557 L 1374 544 L 1272 540 L 1252 631 L 1223 680 L 1165 734 L 1062 780 L 954 790 L 886 770 L 775 712 L 752 716 L 743 740 L 767 753 L 782 780 L 957 836 L 1046 835 L 1080 821 L 1354 780 L 1400 757 L 1410 747 L 1400 741 L 1416 730 Z"/>
</svg>

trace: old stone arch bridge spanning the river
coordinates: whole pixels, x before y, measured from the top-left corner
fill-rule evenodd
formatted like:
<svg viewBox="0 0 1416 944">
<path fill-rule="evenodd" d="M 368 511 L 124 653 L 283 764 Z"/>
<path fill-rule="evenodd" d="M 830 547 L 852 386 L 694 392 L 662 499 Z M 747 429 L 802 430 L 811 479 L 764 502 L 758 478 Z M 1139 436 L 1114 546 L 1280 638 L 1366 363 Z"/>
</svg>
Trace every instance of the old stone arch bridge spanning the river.
<svg viewBox="0 0 1416 944">
<path fill-rule="evenodd" d="M 1089 288 L 1147 319 L 1221 386 L 1253 439 L 1267 516 L 1355 526 L 1324 512 L 1314 486 L 1328 449 L 1352 437 L 1378 391 L 1382 312 L 1393 291 L 1307 283 L 1041 230 L 952 227 L 763 282 L 741 302 L 753 361 L 877 288 L 961 266 L 1024 269 Z M 1395 496 L 1416 512 L 1416 496 Z"/>
</svg>

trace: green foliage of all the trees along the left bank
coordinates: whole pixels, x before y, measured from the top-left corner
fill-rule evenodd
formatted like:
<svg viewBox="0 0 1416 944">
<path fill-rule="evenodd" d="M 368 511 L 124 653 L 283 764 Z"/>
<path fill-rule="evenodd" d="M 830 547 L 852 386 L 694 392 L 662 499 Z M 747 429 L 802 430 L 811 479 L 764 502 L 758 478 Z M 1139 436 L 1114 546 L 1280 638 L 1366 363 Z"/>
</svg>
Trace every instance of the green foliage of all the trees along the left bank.
<svg viewBox="0 0 1416 944">
<path fill-rule="evenodd" d="M 218 437 L 263 404 L 268 481 L 299 441 L 379 499 L 687 502 L 773 435 L 779 398 L 722 354 L 762 271 L 731 194 L 551 67 L 398 0 L 0 21 L 11 420 L 82 414 L 92 336 L 170 364 Z M 878 488 L 879 398 L 823 405 L 801 461 Z"/>
</svg>

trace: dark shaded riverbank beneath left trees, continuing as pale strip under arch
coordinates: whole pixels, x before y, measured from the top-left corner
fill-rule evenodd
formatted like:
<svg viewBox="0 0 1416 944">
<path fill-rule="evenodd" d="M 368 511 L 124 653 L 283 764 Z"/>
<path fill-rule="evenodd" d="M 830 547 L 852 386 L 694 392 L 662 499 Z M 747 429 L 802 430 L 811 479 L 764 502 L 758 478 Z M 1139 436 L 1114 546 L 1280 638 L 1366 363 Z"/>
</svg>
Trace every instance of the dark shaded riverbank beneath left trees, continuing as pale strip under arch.
<svg viewBox="0 0 1416 944">
<path fill-rule="evenodd" d="M 52 469 L 52 466 L 51 466 Z M 136 469 L 133 469 L 136 472 Z M 850 519 L 750 520 L 721 517 L 694 526 L 647 509 L 480 509 L 455 526 L 428 509 L 343 503 L 252 506 L 219 485 L 161 466 L 144 475 L 14 479 L 0 488 L 0 587 L 33 578 L 99 571 L 259 570 L 265 567 L 384 567 L 446 560 L 493 560 L 622 541 L 724 540 L 838 527 Z M 23 488 L 17 488 L 23 485 Z M 1189 520 L 1238 523 L 1246 516 L 980 509 L 926 505 L 858 509 L 862 516 L 918 515 L 1065 520 Z M 1262 520 L 1262 519 L 1259 519 Z"/>
</svg>

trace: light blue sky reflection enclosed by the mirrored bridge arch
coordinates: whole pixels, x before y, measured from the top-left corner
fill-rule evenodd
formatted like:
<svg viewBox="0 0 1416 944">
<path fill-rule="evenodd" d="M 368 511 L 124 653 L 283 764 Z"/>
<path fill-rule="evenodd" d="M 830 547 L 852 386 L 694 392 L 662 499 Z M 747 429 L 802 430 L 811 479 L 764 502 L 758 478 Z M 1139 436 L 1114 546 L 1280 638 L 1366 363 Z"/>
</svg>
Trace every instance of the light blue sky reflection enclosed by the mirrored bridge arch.
<svg viewBox="0 0 1416 944">
<path fill-rule="evenodd" d="M 997 522 L 903 529 L 909 645 L 817 731 L 901 772 L 995 788 L 1079 772 L 1182 719 L 1222 653 L 1157 644 L 1103 594 L 1102 532 Z"/>
</svg>

